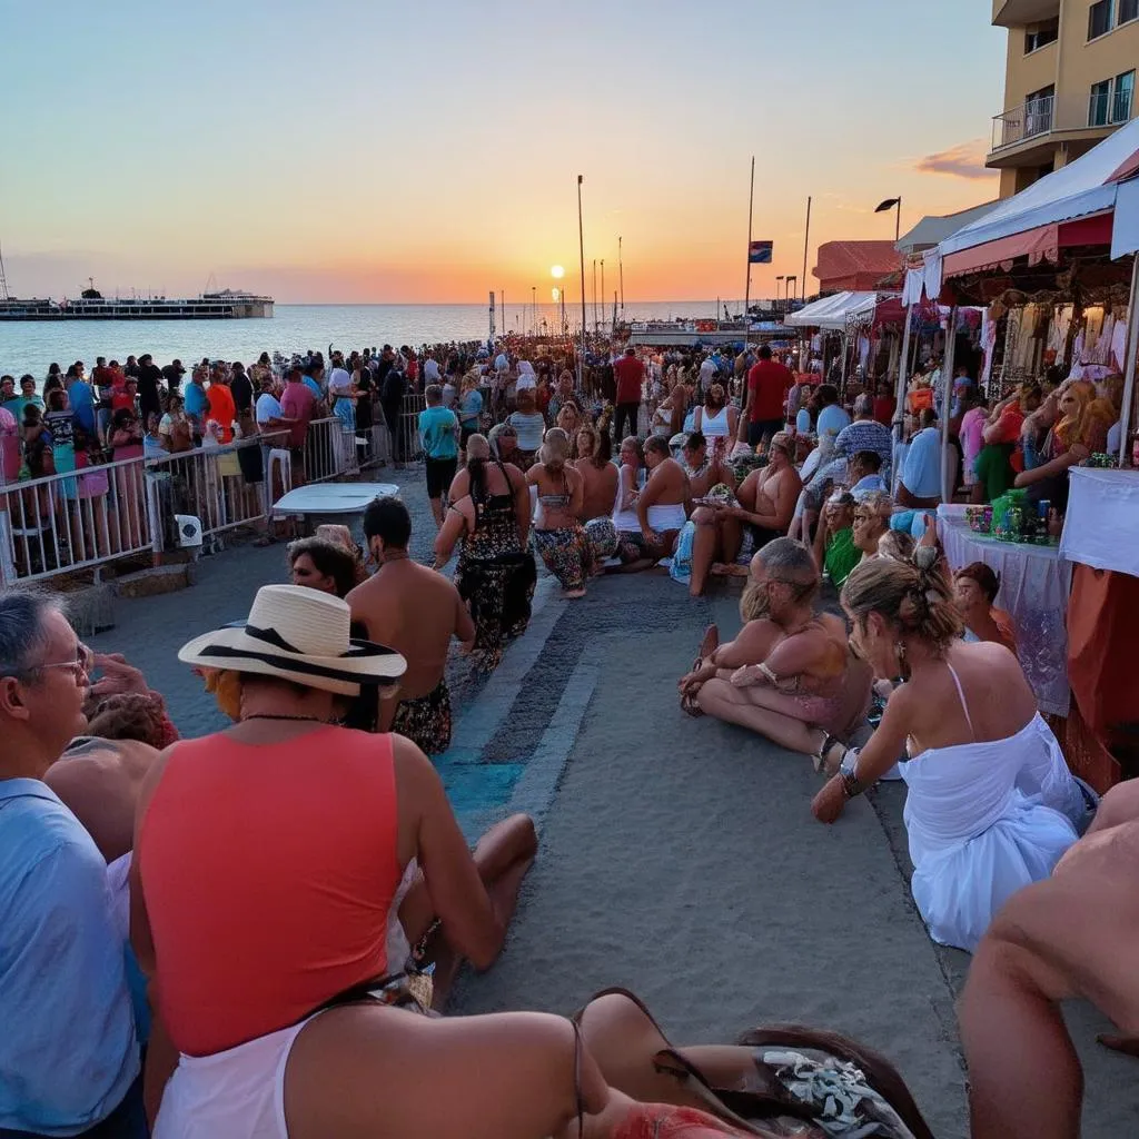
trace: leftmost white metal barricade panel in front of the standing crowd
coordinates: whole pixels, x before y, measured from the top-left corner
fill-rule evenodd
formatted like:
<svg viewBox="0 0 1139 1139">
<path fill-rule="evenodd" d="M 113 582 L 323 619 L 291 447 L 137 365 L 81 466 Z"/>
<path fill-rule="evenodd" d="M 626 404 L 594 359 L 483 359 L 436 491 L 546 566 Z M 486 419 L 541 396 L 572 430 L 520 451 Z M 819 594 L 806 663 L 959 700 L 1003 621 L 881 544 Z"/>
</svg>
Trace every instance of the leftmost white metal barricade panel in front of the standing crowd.
<svg viewBox="0 0 1139 1139">
<path fill-rule="evenodd" d="M 0 489 L 5 584 L 98 568 L 154 548 L 146 460 L 123 459 Z"/>
</svg>

